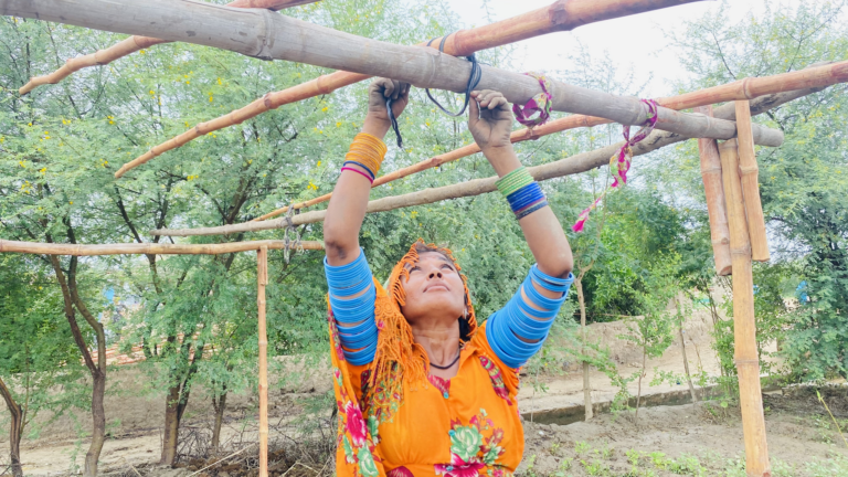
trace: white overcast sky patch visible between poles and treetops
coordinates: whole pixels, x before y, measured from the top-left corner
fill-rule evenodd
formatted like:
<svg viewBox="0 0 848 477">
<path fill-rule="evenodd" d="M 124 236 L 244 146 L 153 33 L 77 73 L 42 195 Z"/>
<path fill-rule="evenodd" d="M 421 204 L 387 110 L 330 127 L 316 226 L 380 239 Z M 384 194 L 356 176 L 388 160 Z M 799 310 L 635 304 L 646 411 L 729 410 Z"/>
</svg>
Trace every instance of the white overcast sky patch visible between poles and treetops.
<svg viewBox="0 0 848 477">
<path fill-rule="evenodd" d="M 803 0 L 772 0 L 775 4 L 797 6 Z M 666 47 L 662 29 L 679 28 L 685 20 L 697 19 L 707 11 L 729 8 L 731 18 L 742 18 L 749 12 L 762 12 L 766 0 L 700 1 L 664 10 L 642 13 L 615 20 L 607 20 L 581 26 L 571 32 L 552 33 L 519 43 L 515 54 L 520 71 L 552 71 L 565 66 L 569 50 L 577 40 L 598 55 L 608 51 L 613 60 L 626 67 L 634 64 L 637 83 L 654 73 L 654 81 L 645 95 L 656 97 L 670 94 L 669 80 L 680 78 L 685 72 L 674 51 Z M 553 0 L 488 0 L 494 21 L 515 17 L 553 3 Z M 454 11 L 465 26 L 488 23 L 483 10 L 483 0 L 457 0 L 452 2 Z M 638 40 L 637 40 L 638 39 Z"/>
</svg>

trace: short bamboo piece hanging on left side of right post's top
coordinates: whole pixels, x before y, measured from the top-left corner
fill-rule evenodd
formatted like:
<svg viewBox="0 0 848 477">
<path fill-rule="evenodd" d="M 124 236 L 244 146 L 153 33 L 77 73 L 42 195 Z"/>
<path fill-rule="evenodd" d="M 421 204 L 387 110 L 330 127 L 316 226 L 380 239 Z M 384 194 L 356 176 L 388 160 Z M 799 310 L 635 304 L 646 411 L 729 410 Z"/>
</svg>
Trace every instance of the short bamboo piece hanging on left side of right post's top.
<svg viewBox="0 0 848 477">
<path fill-rule="evenodd" d="M 695 108 L 696 113 L 712 116 L 712 106 Z M 716 139 L 698 139 L 698 150 L 701 157 L 701 178 L 707 197 L 707 212 L 710 216 L 710 237 L 712 255 L 716 261 L 716 273 L 719 276 L 730 275 L 730 230 L 728 229 L 728 212 L 724 205 L 724 187 L 721 177 L 721 158 Z"/>
</svg>

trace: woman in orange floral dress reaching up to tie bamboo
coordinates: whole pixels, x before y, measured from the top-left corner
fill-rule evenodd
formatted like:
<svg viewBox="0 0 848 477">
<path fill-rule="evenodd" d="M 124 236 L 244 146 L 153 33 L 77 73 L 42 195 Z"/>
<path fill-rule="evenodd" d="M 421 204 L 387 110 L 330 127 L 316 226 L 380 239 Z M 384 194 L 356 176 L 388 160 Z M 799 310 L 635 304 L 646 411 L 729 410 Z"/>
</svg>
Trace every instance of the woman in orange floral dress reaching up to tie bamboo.
<svg viewBox="0 0 848 477">
<path fill-rule="evenodd" d="M 478 328 L 451 252 L 421 240 L 373 279 L 359 231 L 391 127 L 410 85 L 377 80 L 362 132 L 347 155 L 324 222 L 330 336 L 339 406 L 339 476 L 506 476 L 523 453 L 518 369 L 536 353 L 565 300 L 572 256 L 509 134 L 512 113 L 492 91 L 474 92 L 468 129 L 501 178 L 537 259 L 507 306 Z"/>
</svg>

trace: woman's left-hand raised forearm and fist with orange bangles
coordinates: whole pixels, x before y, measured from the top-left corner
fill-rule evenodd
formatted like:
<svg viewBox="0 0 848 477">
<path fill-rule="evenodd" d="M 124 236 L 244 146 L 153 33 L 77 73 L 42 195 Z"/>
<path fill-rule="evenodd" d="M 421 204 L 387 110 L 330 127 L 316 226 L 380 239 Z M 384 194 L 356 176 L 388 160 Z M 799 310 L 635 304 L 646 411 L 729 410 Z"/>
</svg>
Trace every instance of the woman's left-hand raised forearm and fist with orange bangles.
<svg viewBox="0 0 848 477">
<path fill-rule="evenodd" d="M 392 99 L 392 112 L 399 117 L 409 96 L 410 85 L 393 80 L 374 80 L 369 87 L 362 132 L 351 145 L 324 219 L 324 244 L 331 266 L 347 265 L 359 256 L 359 231 L 365 218 L 371 183 L 385 155 L 382 139 L 391 128 L 385 103 Z"/>
</svg>

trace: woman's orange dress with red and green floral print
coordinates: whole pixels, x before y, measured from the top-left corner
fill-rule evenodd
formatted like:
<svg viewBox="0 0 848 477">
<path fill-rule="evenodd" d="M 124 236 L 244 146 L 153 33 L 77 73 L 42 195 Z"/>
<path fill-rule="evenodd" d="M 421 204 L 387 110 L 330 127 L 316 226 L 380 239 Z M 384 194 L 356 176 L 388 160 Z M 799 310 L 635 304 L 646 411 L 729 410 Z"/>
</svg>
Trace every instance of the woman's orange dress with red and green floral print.
<svg viewBox="0 0 848 477">
<path fill-rule="evenodd" d="M 375 286 L 378 301 L 385 300 L 386 292 Z M 329 328 L 339 477 L 504 477 L 516 470 L 524 451 L 518 370 L 498 359 L 485 325 L 463 347 L 456 377 L 428 375 L 417 384 L 402 380 L 402 400 L 386 395 L 390 386 L 373 383 L 369 364 L 344 359 L 332 312 Z M 369 410 L 367 402 L 379 405 Z"/>
</svg>

